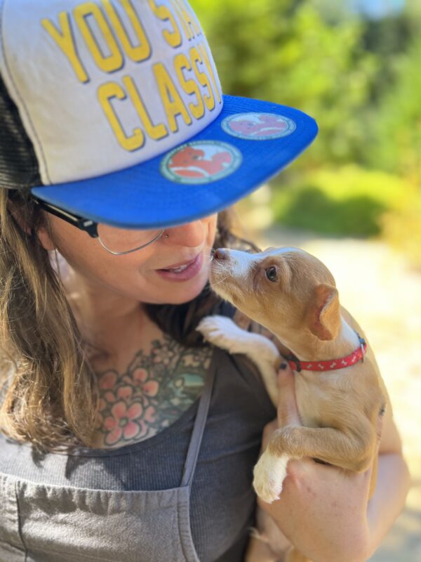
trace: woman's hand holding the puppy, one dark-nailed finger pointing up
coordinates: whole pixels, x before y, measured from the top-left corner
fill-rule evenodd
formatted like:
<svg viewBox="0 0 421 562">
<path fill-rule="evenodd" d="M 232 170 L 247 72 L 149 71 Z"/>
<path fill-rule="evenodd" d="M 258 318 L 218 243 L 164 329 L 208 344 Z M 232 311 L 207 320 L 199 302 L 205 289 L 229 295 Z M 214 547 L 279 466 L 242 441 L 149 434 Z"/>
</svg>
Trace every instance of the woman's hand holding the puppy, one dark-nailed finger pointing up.
<svg viewBox="0 0 421 562">
<path fill-rule="evenodd" d="M 279 372 L 278 419 L 265 428 L 263 450 L 273 431 L 291 424 L 302 425 L 294 374 L 286 365 Z M 366 517 L 370 477 L 371 469 L 355 473 L 309 458 L 291 460 L 280 499 L 258 503 L 314 562 L 362 562 L 370 555 Z"/>
</svg>

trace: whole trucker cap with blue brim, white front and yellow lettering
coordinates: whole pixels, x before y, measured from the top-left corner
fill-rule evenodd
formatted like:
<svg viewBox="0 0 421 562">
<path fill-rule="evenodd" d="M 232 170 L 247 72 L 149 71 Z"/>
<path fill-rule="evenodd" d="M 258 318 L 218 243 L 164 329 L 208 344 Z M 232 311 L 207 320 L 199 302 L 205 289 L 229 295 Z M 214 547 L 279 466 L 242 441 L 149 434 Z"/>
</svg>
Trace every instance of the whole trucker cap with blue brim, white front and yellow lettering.
<svg viewBox="0 0 421 562">
<path fill-rule="evenodd" d="M 258 188 L 317 134 L 224 96 L 186 0 L 0 0 L 0 187 L 122 228 L 176 226 Z"/>
</svg>

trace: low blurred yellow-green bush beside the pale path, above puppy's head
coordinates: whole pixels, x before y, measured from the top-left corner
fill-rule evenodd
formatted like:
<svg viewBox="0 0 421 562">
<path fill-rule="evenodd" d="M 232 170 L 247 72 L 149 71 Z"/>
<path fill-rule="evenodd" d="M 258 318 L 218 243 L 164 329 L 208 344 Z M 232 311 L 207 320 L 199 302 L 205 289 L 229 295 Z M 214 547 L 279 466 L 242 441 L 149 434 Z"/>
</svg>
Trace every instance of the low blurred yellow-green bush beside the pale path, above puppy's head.
<svg viewBox="0 0 421 562">
<path fill-rule="evenodd" d="M 353 164 L 321 168 L 291 178 L 274 191 L 274 218 L 285 226 L 326 235 L 369 237 L 382 232 L 385 211 L 403 211 L 410 185 L 383 171 Z"/>
</svg>

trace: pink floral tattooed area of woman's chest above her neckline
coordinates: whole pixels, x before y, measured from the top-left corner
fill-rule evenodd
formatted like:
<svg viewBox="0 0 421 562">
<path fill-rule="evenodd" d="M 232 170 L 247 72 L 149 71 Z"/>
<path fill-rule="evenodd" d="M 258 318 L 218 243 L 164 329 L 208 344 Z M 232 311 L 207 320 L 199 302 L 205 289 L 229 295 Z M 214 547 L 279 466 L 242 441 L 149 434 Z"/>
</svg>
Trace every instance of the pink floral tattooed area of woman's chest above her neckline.
<svg viewBox="0 0 421 562">
<path fill-rule="evenodd" d="M 179 419 L 201 393 L 211 353 L 211 348 L 184 348 L 163 336 L 146 352 L 133 353 L 125 368 L 97 370 L 94 447 L 137 443 Z"/>
</svg>

